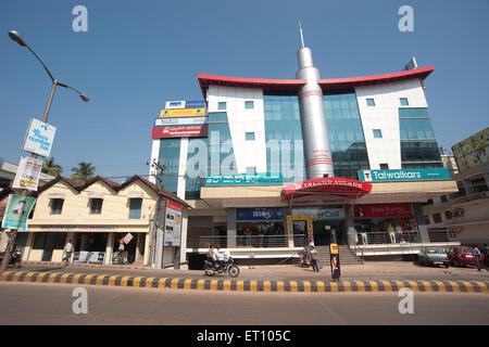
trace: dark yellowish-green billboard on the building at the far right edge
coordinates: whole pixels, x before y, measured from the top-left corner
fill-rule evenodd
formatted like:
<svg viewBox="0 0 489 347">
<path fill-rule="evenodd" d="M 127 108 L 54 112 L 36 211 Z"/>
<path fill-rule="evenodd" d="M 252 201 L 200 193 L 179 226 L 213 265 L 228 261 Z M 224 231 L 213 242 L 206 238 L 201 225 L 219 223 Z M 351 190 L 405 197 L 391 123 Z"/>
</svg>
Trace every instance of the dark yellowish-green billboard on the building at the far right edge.
<svg viewBox="0 0 489 347">
<path fill-rule="evenodd" d="M 460 170 L 488 162 L 488 140 L 489 128 L 486 128 L 452 146 L 453 156 Z"/>
</svg>

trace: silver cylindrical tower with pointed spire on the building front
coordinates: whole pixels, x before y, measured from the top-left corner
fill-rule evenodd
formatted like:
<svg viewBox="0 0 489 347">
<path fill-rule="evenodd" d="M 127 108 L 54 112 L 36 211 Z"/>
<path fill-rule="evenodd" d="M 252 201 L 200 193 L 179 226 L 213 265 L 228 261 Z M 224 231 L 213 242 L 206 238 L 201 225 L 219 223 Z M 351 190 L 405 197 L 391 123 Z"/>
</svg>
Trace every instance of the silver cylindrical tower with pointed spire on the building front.
<svg viewBox="0 0 489 347">
<path fill-rule="evenodd" d="M 319 70 L 314 67 L 311 49 L 304 47 L 303 39 L 297 57 L 299 70 L 296 78 L 308 81 L 299 90 L 306 179 L 333 177 L 333 157 L 324 113 L 323 90 L 317 83 Z"/>
</svg>

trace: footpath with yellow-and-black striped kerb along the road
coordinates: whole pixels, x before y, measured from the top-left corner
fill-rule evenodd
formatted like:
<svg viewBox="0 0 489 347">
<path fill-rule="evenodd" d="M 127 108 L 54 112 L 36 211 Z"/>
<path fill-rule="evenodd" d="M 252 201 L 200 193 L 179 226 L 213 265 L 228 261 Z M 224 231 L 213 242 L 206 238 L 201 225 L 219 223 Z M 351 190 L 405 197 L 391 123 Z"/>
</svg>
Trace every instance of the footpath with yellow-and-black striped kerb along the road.
<svg viewBox="0 0 489 347">
<path fill-rule="evenodd" d="M 205 277 L 202 270 L 152 269 L 131 266 L 23 264 L 0 275 L 4 282 L 66 283 L 140 288 L 243 292 L 413 292 L 489 294 L 489 272 L 475 268 L 428 268 L 408 261 L 369 261 L 341 267 L 333 282 L 328 267 L 321 272 L 297 266 L 240 267 L 240 274 Z"/>
</svg>

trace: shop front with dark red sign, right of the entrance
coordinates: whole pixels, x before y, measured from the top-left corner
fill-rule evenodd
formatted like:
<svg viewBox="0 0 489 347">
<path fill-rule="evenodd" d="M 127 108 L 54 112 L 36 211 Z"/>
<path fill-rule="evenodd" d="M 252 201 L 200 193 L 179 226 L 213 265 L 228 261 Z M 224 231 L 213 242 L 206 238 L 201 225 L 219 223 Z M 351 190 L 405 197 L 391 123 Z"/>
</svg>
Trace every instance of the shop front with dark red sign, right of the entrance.
<svg viewBox="0 0 489 347">
<path fill-rule="evenodd" d="M 403 244 L 421 242 L 410 203 L 362 204 L 353 206 L 359 244 Z"/>
</svg>

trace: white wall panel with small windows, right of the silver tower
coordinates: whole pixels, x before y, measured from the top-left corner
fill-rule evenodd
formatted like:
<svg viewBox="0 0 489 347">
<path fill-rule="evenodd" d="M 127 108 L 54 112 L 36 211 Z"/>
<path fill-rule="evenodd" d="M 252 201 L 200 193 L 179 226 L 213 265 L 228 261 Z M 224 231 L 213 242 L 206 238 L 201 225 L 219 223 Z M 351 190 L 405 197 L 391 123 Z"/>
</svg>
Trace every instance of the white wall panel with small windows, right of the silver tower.
<svg viewBox="0 0 489 347">
<path fill-rule="evenodd" d="M 401 169 L 401 139 L 399 107 L 428 107 L 418 79 L 390 83 L 355 87 L 356 101 L 365 136 L 371 169 Z M 401 106 L 400 98 L 406 98 L 409 106 Z M 366 99 L 374 99 L 375 106 L 367 106 Z M 374 138 L 374 129 L 380 129 L 381 139 Z"/>
</svg>

